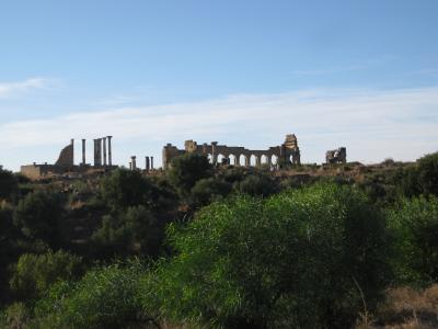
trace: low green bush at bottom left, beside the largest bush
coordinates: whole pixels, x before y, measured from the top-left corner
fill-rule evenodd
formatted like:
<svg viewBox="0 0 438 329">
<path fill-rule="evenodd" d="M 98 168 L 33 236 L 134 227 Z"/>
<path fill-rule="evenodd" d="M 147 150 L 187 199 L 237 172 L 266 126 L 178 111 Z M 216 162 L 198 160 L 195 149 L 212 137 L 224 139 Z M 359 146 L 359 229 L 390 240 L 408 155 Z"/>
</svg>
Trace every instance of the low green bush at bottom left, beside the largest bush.
<svg viewBox="0 0 438 329">
<path fill-rule="evenodd" d="M 78 282 L 55 285 L 35 308 L 36 328 L 143 328 L 138 261 L 87 272 Z"/>
</svg>

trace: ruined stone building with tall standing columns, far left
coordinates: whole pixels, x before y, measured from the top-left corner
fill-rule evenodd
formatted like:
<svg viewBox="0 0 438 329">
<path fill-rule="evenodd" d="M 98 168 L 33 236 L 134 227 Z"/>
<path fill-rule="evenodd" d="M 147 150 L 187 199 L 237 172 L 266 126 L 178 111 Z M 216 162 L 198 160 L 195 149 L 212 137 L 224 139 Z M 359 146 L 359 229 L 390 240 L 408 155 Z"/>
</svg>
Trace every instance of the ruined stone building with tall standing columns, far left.
<svg viewBox="0 0 438 329">
<path fill-rule="evenodd" d="M 27 164 L 21 166 L 21 173 L 31 178 L 39 179 L 48 175 L 84 174 L 91 170 L 111 170 L 114 169 L 112 161 L 112 145 L 113 136 L 94 139 L 94 161 L 93 164 L 87 163 L 85 139 L 82 139 L 82 161 L 79 166 L 74 164 L 74 140 L 61 149 L 58 160 L 55 164 Z"/>
</svg>

